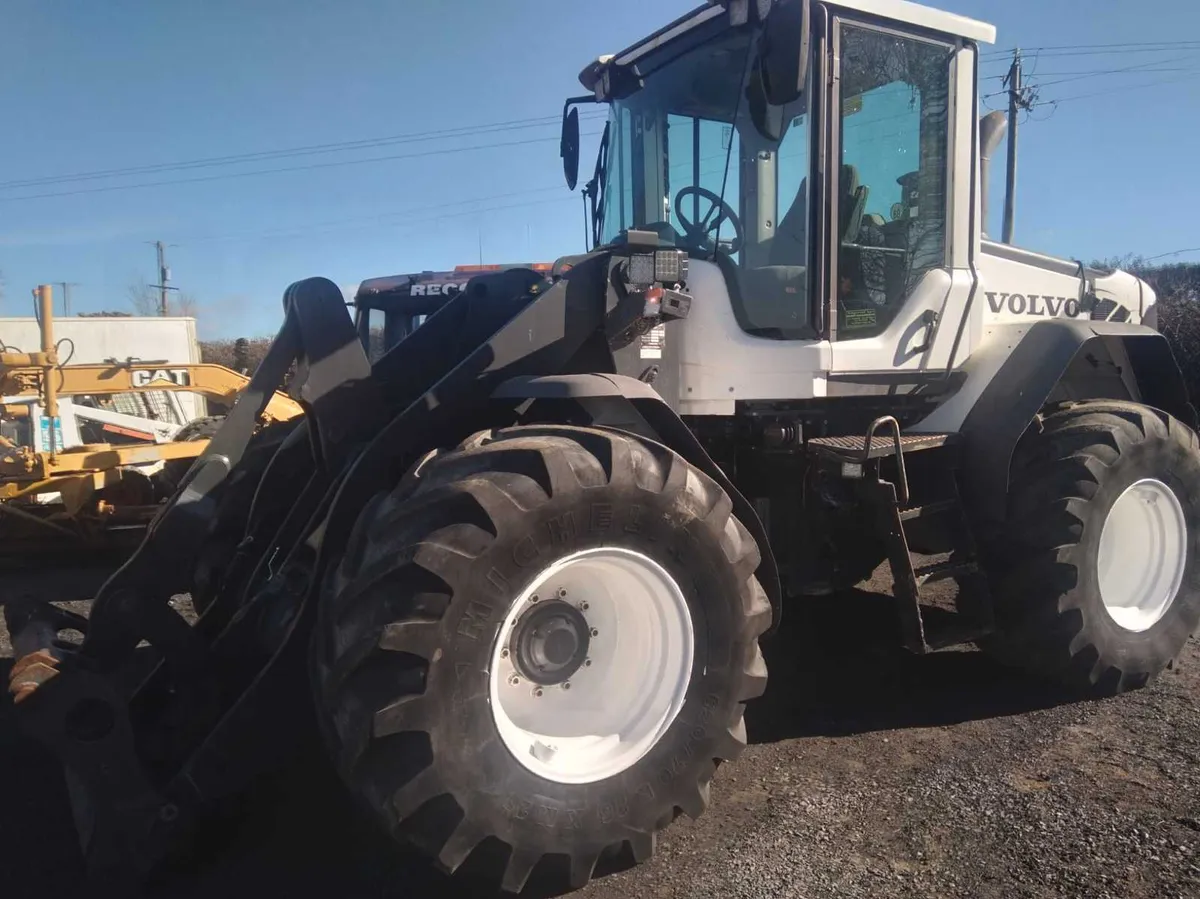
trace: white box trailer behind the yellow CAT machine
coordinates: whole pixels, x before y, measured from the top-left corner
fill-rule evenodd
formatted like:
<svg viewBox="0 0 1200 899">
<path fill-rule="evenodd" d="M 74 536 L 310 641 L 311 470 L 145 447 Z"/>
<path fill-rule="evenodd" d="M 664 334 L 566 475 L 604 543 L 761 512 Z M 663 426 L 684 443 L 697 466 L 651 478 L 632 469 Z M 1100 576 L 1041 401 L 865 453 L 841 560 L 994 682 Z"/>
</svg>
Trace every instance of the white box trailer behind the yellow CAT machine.
<svg viewBox="0 0 1200 899">
<path fill-rule="evenodd" d="M 174 365 L 200 361 L 200 344 L 196 336 L 196 319 L 181 317 L 136 318 L 72 318 L 54 319 L 54 338 L 71 343 L 60 347 L 60 355 L 70 362 L 97 364 L 109 359 L 162 359 Z M 36 352 L 41 336 L 36 318 L 0 318 L 0 340 L 10 348 L 25 353 Z M 208 414 L 204 397 L 179 392 L 185 420 Z"/>
</svg>

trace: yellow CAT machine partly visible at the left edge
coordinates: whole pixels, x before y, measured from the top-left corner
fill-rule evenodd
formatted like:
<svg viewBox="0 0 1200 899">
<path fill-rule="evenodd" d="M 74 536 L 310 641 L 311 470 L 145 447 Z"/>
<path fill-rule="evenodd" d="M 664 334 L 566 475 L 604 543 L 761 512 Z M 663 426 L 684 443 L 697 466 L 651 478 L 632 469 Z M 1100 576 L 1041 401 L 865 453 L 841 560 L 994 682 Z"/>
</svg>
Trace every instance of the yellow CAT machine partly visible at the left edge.
<svg viewBox="0 0 1200 899">
<path fill-rule="evenodd" d="M 0 563 L 136 546 L 221 418 L 180 427 L 152 410 L 122 414 L 112 400 L 186 391 L 229 408 L 250 379 L 221 365 L 166 360 L 64 365 L 50 288 L 34 293 L 40 350 L 0 352 Z M 278 391 L 265 409 L 269 422 L 302 413 Z"/>
</svg>

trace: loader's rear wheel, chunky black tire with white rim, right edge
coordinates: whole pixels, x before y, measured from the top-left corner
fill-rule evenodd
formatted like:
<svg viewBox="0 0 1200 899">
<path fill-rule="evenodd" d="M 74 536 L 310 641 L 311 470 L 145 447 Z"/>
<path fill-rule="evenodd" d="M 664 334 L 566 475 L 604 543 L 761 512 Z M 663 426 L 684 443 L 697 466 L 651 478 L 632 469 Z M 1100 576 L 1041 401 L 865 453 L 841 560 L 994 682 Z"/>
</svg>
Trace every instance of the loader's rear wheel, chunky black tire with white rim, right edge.
<svg viewBox="0 0 1200 899">
<path fill-rule="evenodd" d="M 1013 459 L 989 547 L 1000 660 L 1115 693 L 1171 664 L 1200 623 L 1200 443 L 1130 402 L 1043 419 Z"/>
</svg>

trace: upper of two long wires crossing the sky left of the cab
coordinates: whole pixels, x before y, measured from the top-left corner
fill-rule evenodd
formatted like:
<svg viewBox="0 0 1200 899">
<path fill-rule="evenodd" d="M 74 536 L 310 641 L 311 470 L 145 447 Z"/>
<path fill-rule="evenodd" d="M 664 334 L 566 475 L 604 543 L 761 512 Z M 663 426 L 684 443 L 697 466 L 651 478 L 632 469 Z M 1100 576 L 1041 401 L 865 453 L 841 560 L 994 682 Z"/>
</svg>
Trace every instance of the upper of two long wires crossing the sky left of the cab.
<svg viewBox="0 0 1200 899">
<path fill-rule="evenodd" d="M 600 119 L 600 116 L 590 116 Z M 43 178 L 30 178 L 14 181 L 0 181 L 0 190 L 13 190 L 19 187 L 37 187 L 54 184 L 70 184 L 74 181 L 90 181 L 106 178 L 122 178 L 139 174 L 157 174 L 162 172 L 187 170 L 194 168 L 210 168 L 215 166 L 235 166 L 250 162 L 266 162 L 276 158 L 292 158 L 295 156 L 310 156 L 326 152 L 346 152 L 353 150 L 368 150 L 377 146 L 389 146 L 394 144 L 421 143 L 426 140 L 442 140 L 456 137 L 474 137 L 475 134 L 490 134 L 505 131 L 521 131 L 530 127 L 545 127 L 558 122 L 558 116 L 541 116 L 536 119 L 514 119 L 510 121 L 493 122 L 490 125 L 462 126 L 456 128 L 444 128 L 440 131 L 412 132 L 406 134 L 390 134 L 385 137 L 361 138 L 358 140 L 342 140 L 330 144 L 310 144 L 307 146 L 292 146 L 277 150 L 259 150 L 256 152 L 233 154 L 228 156 L 209 156 L 197 160 L 185 160 L 181 162 L 161 162 L 145 166 L 131 166 L 126 168 L 101 169 L 95 172 L 77 172 L 64 175 L 46 175 Z"/>
</svg>

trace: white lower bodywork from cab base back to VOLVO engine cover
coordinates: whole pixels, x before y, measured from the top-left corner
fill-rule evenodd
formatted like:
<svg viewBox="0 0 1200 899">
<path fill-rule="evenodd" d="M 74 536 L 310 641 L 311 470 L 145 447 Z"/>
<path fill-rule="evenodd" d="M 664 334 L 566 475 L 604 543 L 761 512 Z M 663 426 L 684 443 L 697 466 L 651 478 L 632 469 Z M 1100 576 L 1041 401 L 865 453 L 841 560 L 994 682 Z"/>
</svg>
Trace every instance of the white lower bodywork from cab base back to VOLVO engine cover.
<svg viewBox="0 0 1200 899">
<path fill-rule="evenodd" d="M 1126 320 L 1138 324 L 1154 304 L 1148 286 L 1115 271 L 1090 280 L 1099 301 L 1116 304 L 1106 312 L 1093 312 L 1080 304 L 1081 281 L 1074 274 L 1075 263 L 1016 247 L 985 247 L 977 265 L 979 286 L 954 365 L 968 373 L 972 386 L 948 400 L 922 422 L 920 430 L 955 430 L 978 390 L 988 384 L 1030 324 L 1045 318 L 1088 320 L 1102 313 L 1108 318 L 1122 307 L 1127 310 Z M 833 343 L 745 334 L 733 316 L 721 271 L 713 263 L 691 260 L 689 290 L 692 304 L 688 318 L 666 329 L 655 388 L 679 414 L 731 415 L 739 400 L 808 400 L 864 392 L 862 385 L 829 382 L 830 374 L 944 371 L 971 294 L 971 272 L 930 271 L 882 334 Z M 916 352 L 924 342 L 922 317 L 926 311 L 938 313 L 938 325 L 929 348 Z M 649 358 L 641 354 L 643 360 Z"/>
</svg>

